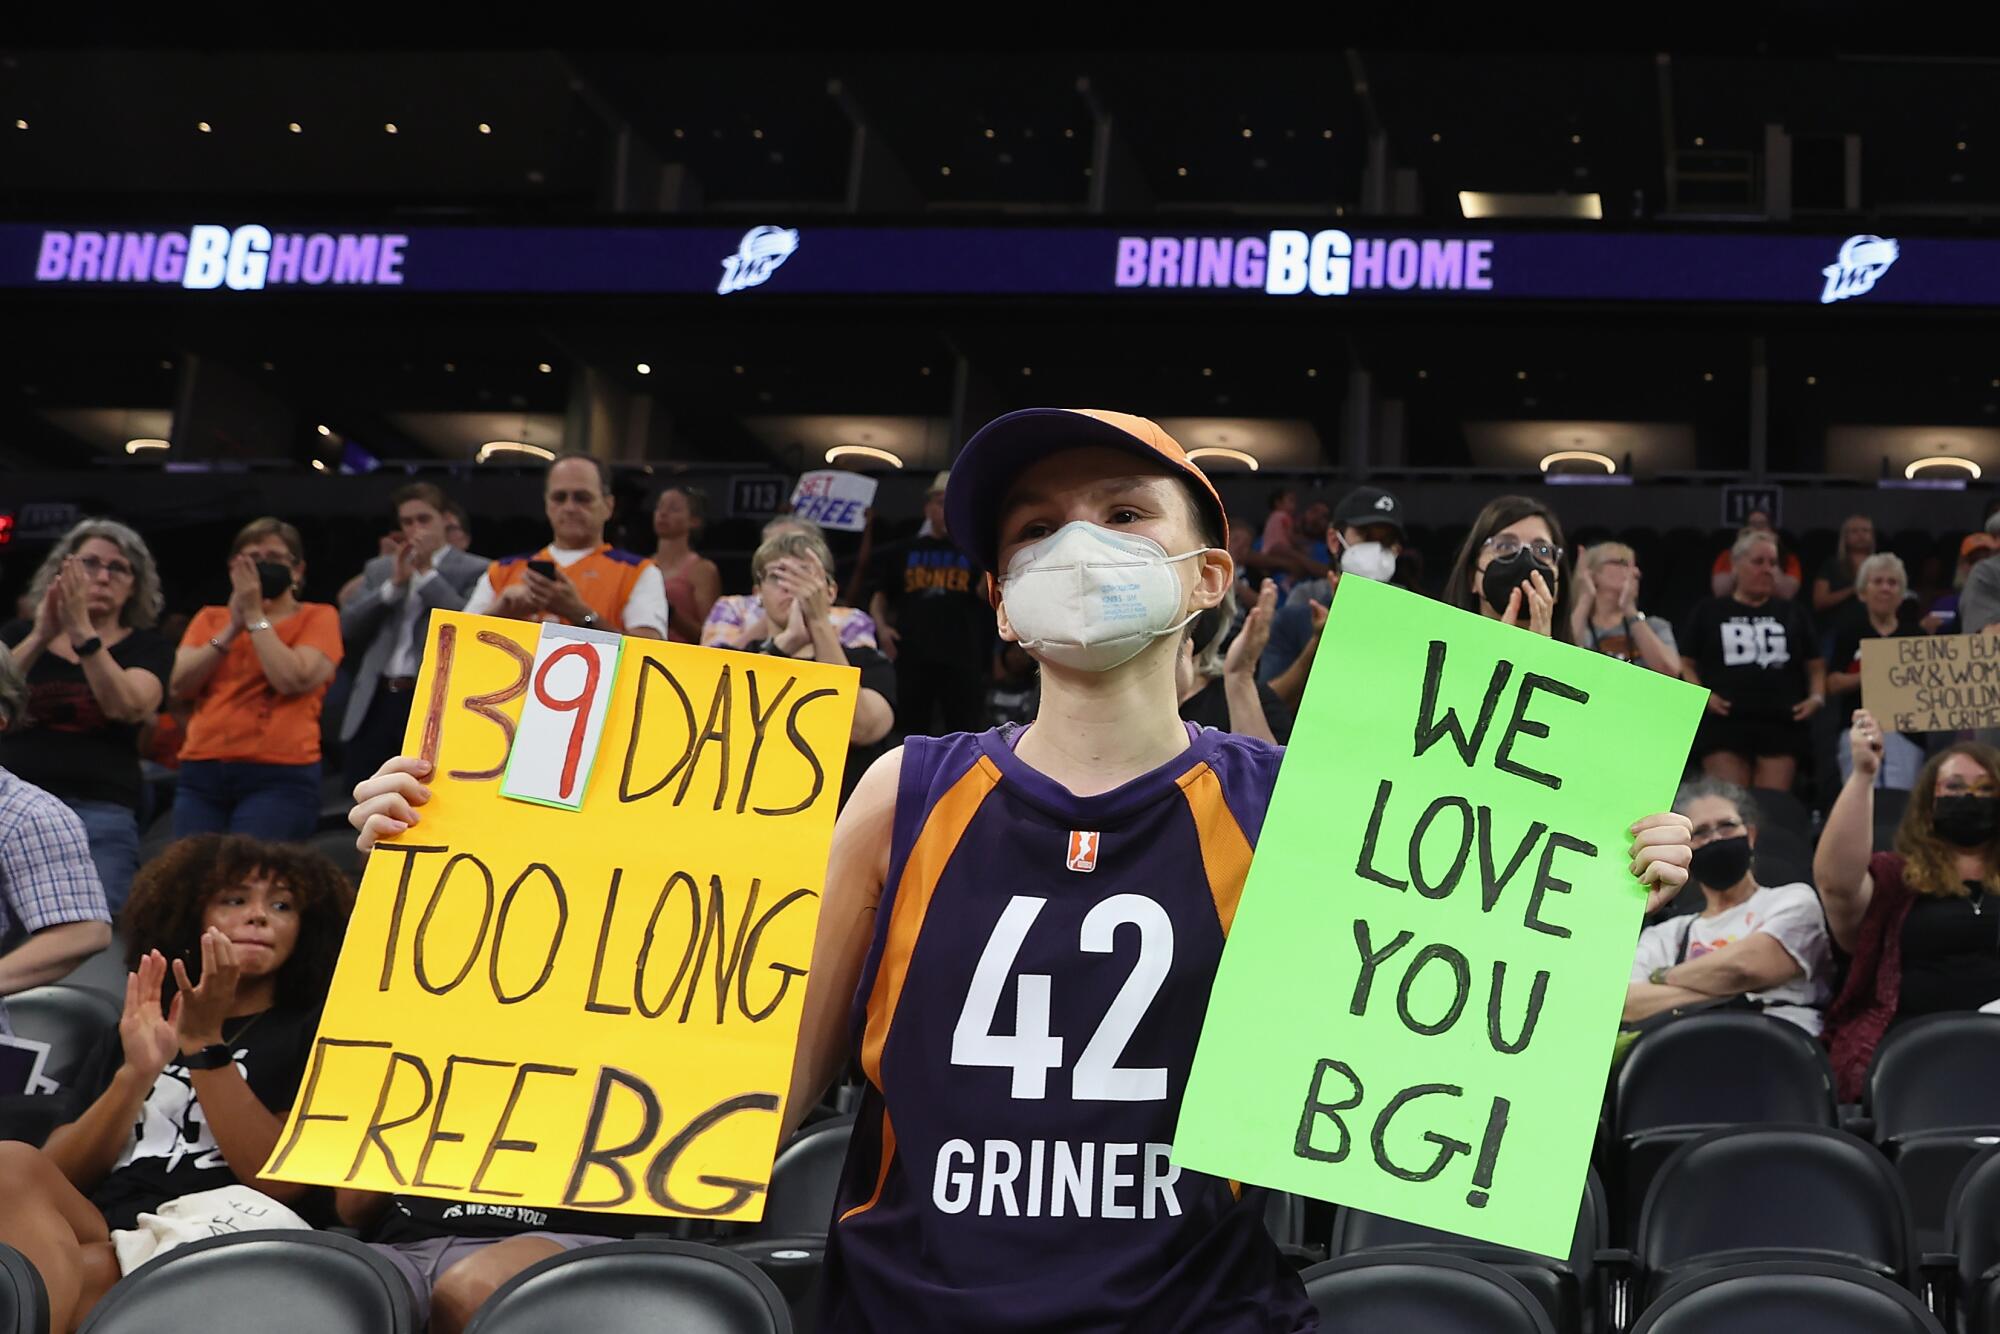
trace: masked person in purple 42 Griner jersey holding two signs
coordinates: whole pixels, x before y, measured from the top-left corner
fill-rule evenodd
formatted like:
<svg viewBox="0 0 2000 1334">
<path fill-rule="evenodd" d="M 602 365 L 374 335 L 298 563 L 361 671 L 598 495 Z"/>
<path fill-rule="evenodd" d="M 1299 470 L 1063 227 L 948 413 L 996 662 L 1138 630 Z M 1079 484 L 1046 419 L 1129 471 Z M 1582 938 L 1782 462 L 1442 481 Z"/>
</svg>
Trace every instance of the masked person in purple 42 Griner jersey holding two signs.
<svg viewBox="0 0 2000 1334">
<path fill-rule="evenodd" d="M 1172 1160 L 1282 756 L 1178 716 L 1180 640 L 1234 578 L 1222 504 L 1154 422 L 1030 408 L 966 444 L 946 512 L 1042 696 L 910 738 L 836 826 L 784 1112 L 858 1048 L 818 1328 L 1312 1330 L 1258 1192 Z M 418 822 L 422 774 L 356 790 L 364 848 Z M 1686 844 L 1634 826 L 1652 900 Z"/>
</svg>

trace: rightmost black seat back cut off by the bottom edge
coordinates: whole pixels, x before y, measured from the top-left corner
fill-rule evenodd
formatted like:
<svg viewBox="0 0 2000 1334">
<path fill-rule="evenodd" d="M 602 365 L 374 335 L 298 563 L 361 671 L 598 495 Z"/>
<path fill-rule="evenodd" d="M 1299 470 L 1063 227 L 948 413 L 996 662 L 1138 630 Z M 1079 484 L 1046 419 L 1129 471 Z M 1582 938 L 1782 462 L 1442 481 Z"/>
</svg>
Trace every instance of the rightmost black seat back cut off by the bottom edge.
<svg viewBox="0 0 2000 1334">
<path fill-rule="evenodd" d="M 1892 1282 L 1838 1264 L 1736 1264 L 1660 1298 L 1632 1334 L 1944 1334 Z"/>
</svg>

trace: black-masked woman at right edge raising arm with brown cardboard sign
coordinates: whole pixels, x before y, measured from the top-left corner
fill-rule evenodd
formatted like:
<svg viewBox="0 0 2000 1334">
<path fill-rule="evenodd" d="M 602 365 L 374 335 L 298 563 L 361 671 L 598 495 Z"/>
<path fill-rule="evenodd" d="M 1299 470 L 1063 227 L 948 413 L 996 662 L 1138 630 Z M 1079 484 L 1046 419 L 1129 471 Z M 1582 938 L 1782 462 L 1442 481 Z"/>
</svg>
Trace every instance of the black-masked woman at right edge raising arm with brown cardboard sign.
<svg viewBox="0 0 2000 1334">
<path fill-rule="evenodd" d="M 1826 926 L 1852 956 L 1826 1010 L 1842 1102 L 1860 1098 L 1892 1026 L 2000 1000 L 2000 752 L 1960 742 L 1934 754 L 1910 790 L 1896 850 L 1870 852 L 1882 766 L 1874 714 L 1854 714 L 1848 744 L 1854 772 L 1812 854 Z"/>
</svg>

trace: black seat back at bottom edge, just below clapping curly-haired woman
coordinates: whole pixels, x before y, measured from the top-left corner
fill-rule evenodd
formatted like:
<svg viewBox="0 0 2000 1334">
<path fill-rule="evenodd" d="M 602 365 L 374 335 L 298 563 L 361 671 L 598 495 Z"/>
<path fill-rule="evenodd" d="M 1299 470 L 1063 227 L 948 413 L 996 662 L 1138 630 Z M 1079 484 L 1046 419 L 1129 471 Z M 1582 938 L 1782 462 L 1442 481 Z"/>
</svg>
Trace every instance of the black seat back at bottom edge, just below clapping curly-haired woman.
<svg viewBox="0 0 2000 1334">
<path fill-rule="evenodd" d="M 164 1330 L 414 1334 L 408 1280 L 330 1232 L 236 1232 L 188 1242 L 118 1280 L 82 1334 Z"/>
</svg>

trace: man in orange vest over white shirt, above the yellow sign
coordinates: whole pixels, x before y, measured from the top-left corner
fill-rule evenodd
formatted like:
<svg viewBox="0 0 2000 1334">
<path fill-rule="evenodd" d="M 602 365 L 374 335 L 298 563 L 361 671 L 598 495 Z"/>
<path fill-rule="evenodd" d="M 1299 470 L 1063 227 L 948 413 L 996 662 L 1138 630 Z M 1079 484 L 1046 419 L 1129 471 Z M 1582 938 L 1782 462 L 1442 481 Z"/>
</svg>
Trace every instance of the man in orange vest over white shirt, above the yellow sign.
<svg viewBox="0 0 2000 1334">
<path fill-rule="evenodd" d="M 610 466 L 590 454 L 556 454 L 542 500 L 552 542 L 530 556 L 492 562 L 466 598 L 466 612 L 664 640 L 660 566 L 604 540 L 612 520 Z"/>
</svg>

